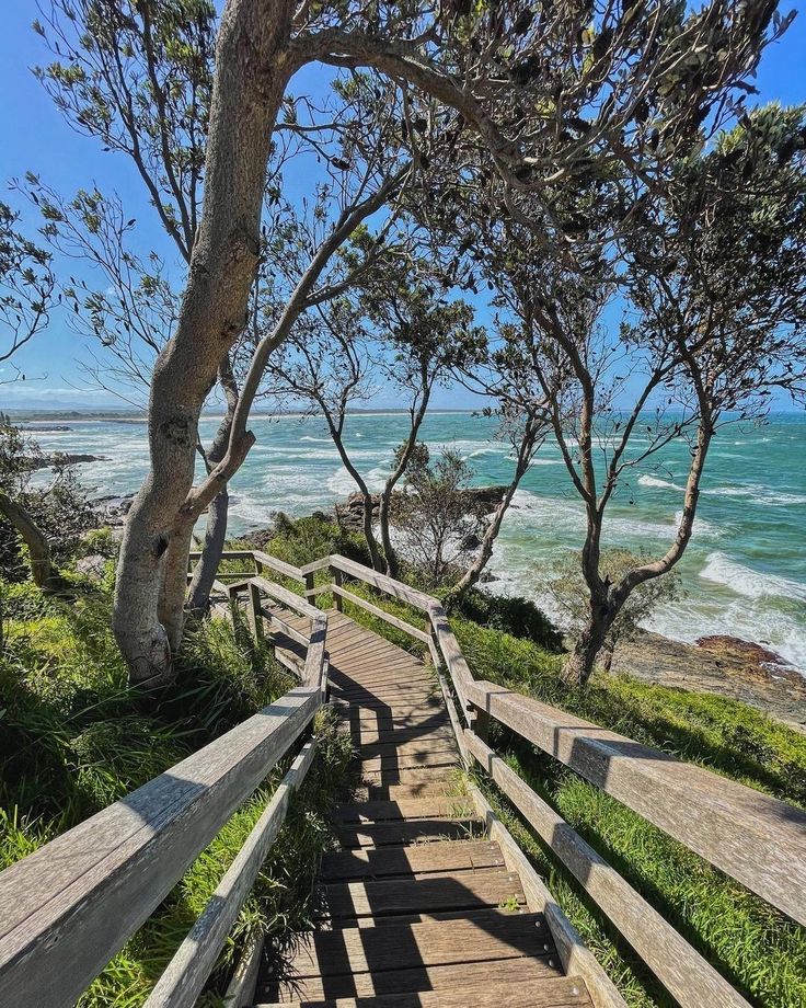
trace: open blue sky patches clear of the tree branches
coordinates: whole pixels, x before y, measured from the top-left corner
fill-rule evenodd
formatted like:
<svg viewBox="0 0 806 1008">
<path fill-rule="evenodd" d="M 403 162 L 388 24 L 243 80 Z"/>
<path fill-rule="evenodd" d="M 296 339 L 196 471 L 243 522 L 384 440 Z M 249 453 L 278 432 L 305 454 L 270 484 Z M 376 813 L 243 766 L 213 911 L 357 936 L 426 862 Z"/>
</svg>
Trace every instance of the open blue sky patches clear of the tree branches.
<svg viewBox="0 0 806 1008">
<path fill-rule="evenodd" d="M 0 33 L 0 186 L 26 171 L 38 174 L 43 182 L 64 195 L 97 184 L 102 192 L 115 190 L 130 216 L 137 219 L 135 237 L 143 250 L 156 249 L 171 261 L 175 250 L 156 221 L 156 215 L 145 197 L 142 183 L 134 167 L 123 154 L 104 153 L 101 145 L 74 133 L 59 115 L 53 102 L 35 80 L 32 67 L 48 61 L 43 39 L 31 28 L 36 16 L 34 0 L 12 0 L 3 4 L 3 31 Z M 790 10 L 785 3 L 782 12 Z M 311 88 L 321 88 L 324 70 L 312 70 Z M 300 90 L 300 81 L 295 90 Z M 760 95 L 753 101 L 780 100 L 784 104 L 806 102 L 806 14 L 795 18 L 784 37 L 768 48 L 759 68 L 756 85 Z M 300 191 L 304 179 L 299 179 Z M 24 209 L 19 197 L 4 192 L 0 195 L 12 206 Z M 25 381 L 9 383 L 10 369 L 0 365 L 0 409 L 103 410 L 120 408 L 123 403 L 107 392 L 87 388 L 80 368 L 82 356 L 93 346 L 68 328 L 58 314 L 48 329 L 38 334 L 14 357 L 15 365 L 27 376 Z M 378 408 L 388 408 L 384 392 L 379 393 Z M 472 408 L 477 404 L 459 388 L 442 389 L 435 406 L 444 409 Z"/>
</svg>

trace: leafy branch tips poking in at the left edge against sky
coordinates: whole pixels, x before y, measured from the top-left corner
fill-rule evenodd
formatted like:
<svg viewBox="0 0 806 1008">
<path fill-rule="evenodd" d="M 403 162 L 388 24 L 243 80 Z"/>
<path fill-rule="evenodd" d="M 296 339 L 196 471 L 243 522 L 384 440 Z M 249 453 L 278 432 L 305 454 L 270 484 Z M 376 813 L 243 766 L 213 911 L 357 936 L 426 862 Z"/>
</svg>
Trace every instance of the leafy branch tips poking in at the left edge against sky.
<svg viewBox="0 0 806 1008">
<path fill-rule="evenodd" d="M 47 325 L 55 288 L 50 253 L 22 233 L 20 215 L 0 202 L 0 364 Z"/>
</svg>

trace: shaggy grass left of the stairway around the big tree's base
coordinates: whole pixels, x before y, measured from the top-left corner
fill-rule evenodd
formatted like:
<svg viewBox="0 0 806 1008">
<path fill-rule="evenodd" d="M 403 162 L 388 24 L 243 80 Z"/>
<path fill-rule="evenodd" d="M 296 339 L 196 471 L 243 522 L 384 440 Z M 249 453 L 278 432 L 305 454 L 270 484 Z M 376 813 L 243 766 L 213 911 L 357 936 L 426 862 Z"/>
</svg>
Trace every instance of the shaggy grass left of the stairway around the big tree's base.
<svg viewBox="0 0 806 1008">
<path fill-rule="evenodd" d="M 67 603 L 4 585 L 0 653 L 0 868 L 116 801 L 286 692 L 292 684 L 247 629 L 212 619 L 188 633 L 176 683 L 159 699 L 131 689 L 110 631 L 111 574 Z M 330 843 L 329 810 L 352 749 L 326 712 L 319 752 L 241 913 L 205 995 L 220 992 L 235 948 L 255 930 L 283 948 L 313 912 L 313 880 Z M 146 1000 L 261 815 L 290 761 L 275 768 L 80 1000 Z"/>
</svg>

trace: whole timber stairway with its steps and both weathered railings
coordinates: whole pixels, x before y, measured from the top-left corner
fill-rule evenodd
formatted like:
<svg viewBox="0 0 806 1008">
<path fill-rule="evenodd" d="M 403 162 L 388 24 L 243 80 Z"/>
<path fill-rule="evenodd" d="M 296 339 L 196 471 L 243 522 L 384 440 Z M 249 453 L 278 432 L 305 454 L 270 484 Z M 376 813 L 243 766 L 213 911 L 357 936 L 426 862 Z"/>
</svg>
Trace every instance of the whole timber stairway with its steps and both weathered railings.
<svg viewBox="0 0 806 1008">
<path fill-rule="evenodd" d="M 194 1005 L 279 831 L 290 795 L 315 758 L 315 742 L 306 735 L 329 689 L 352 726 L 368 793 L 338 813 L 337 833 L 346 846 L 335 859 L 329 856 L 330 875 L 323 877 L 333 907 L 330 929 L 303 941 L 315 958 L 315 969 L 301 967 L 307 973 L 300 984 L 308 993 L 278 993 L 278 1001 L 331 1006 L 335 1001 L 329 998 L 347 998 L 338 1001 L 339 1008 L 357 1004 L 350 999 L 357 997 L 362 1006 L 377 1008 L 623 1005 L 479 789 L 467 789 L 463 801 L 472 803 L 473 828 L 487 834 L 484 850 L 471 849 L 477 840 L 422 845 L 429 823 L 437 824 L 430 837 L 437 841 L 467 827 L 467 810 L 456 817 L 458 799 L 448 788 L 449 775 L 461 761 L 481 769 L 509 799 L 683 1008 L 747 1005 L 500 759 L 488 744 L 491 720 L 806 925 L 803 811 L 556 708 L 474 680 L 440 603 L 361 564 L 325 557 L 296 568 L 260 550 L 231 551 L 224 559 L 245 562 L 249 569 L 219 573 L 216 589 L 232 604 L 245 603 L 253 632 L 275 646 L 300 685 L 0 873 L 0 1004 L 73 1004 L 239 805 L 297 746 L 288 774 L 148 1000 L 150 1008 Z M 302 595 L 277 579 L 300 585 Z M 387 612 L 365 597 L 366 591 L 350 591 L 350 582 L 404 604 L 422 626 Z M 329 614 L 316 608 L 322 595 L 334 603 L 330 622 Z M 406 633 L 427 652 L 429 665 L 350 620 L 345 606 Z M 451 755 L 451 742 L 458 757 Z M 474 867 L 479 863 L 481 870 Z M 545 966 L 522 928 L 491 902 L 491 893 L 505 884 L 500 872 L 509 873 L 506 884 L 514 886 L 517 913 L 531 914 L 538 928 L 545 926 L 543 946 L 554 950 L 557 967 Z M 342 883 L 346 889 L 339 889 Z M 459 944 L 453 939 L 446 944 L 446 929 L 429 930 L 428 920 L 446 916 L 457 920 L 450 933 Z M 368 924 L 373 925 L 369 930 Z M 341 933 L 338 940 L 327 937 L 333 929 Z M 405 948 L 412 949 L 402 959 L 400 949 L 388 951 L 393 935 L 399 944 L 405 937 Z M 470 958 L 451 959 L 457 949 Z M 235 971 L 229 992 L 232 1008 L 251 1004 L 258 961 L 260 943 L 246 950 Z M 295 965 L 300 961 L 297 957 Z M 563 986 L 565 977 L 574 978 L 571 987 Z M 408 999 L 400 999 L 406 993 Z M 394 996 L 388 1000 L 388 995 Z"/>
</svg>

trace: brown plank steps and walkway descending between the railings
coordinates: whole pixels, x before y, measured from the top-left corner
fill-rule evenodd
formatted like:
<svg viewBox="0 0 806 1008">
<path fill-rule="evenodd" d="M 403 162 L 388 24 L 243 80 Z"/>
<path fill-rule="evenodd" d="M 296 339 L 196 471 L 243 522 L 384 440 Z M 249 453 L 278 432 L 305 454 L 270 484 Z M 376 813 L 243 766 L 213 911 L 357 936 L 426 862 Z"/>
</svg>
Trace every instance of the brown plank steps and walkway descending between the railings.
<svg viewBox="0 0 806 1008">
<path fill-rule="evenodd" d="M 341 612 L 329 617 L 331 696 L 349 723 L 362 784 L 336 810 L 339 848 L 322 863 L 320 926 L 300 936 L 281 978 L 277 964 L 264 967 L 257 1001 L 589 1006 L 463 793 L 434 669 Z"/>
</svg>

